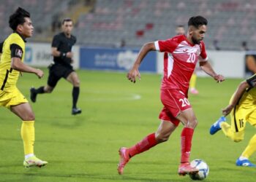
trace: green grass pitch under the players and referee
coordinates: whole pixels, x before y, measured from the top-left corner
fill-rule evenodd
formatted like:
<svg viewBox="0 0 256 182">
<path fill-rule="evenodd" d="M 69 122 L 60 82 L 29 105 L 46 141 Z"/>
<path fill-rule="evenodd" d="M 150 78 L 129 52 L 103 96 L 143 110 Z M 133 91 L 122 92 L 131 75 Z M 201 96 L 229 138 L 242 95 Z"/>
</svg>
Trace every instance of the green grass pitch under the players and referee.
<svg viewBox="0 0 256 182">
<path fill-rule="evenodd" d="M 131 159 L 118 175 L 118 149 L 132 146 L 157 130 L 160 76 L 142 74 L 136 84 L 126 73 L 78 71 L 83 113 L 71 115 L 72 85 L 61 80 L 51 94 L 39 95 L 31 103 L 36 115 L 35 154 L 49 162 L 46 167 L 23 167 L 20 119 L 6 108 L 0 109 L 0 181 L 191 181 L 177 174 L 182 126 L 169 141 Z M 29 88 L 47 82 L 24 74 L 18 88 L 29 99 Z M 203 159 L 210 167 L 205 181 L 255 181 L 255 168 L 236 167 L 255 128 L 247 124 L 241 143 L 225 138 L 222 131 L 209 135 L 209 127 L 221 116 L 241 79 L 217 84 L 198 78 L 199 95 L 189 95 L 199 124 L 195 130 L 191 159 Z M 229 121 L 228 117 L 228 121 Z M 255 155 L 251 157 L 256 162 Z"/>
</svg>

